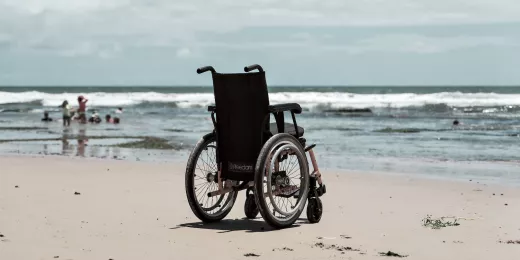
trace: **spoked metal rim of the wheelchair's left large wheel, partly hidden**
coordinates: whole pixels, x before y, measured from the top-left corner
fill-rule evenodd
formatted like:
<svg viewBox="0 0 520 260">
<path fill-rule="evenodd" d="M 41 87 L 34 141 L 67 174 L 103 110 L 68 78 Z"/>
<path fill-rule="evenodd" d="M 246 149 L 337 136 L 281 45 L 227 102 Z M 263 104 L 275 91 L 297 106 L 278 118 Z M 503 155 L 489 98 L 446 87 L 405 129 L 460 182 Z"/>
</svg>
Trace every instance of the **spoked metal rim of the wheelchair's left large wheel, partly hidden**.
<svg viewBox="0 0 520 260">
<path fill-rule="evenodd" d="M 216 163 L 215 141 L 209 143 L 199 153 L 193 170 L 193 189 L 196 205 L 209 217 L 216 217 L 226 211 L 234 192 L 208 197 L 209 192 L 218 190 L 218 167 Z M 197 184 L 197 181 L 199 182 Z M 224 202 L 224 204 L 222 204 Z"/>
</svg>

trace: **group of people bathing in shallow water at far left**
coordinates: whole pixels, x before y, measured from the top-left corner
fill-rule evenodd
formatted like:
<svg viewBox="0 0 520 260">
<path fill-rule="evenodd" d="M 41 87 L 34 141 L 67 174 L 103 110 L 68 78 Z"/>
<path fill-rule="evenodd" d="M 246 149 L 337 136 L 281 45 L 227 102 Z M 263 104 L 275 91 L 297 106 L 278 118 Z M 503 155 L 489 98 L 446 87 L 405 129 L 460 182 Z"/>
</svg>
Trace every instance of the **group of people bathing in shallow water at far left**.
<svg viewBox="0 0 520 260">
<path fill-rule="evenodd" d="M 67 100 L 63 101 L 63 103 L 59 106 L 62 109 L 62 116 L 63 116 L 63 126 L 70 126 L 71 120 L 77 120 L 81 124 L 86 124 L 87 121 L 89 123 L 101 123 L 101 118 L 99 117 L 98 113 L 94 111 L 90 118 L 87 120 L 86 111 L 87 111 L 87 102 L 88 99 L 86 99 L 84 96 L 78 96 L 78 109 L 72 108 L 72 106 L 69 104 Z M 118 107 L 115 111 L 116 114 L 123 113 L 123 108 Z M 120 122 L 119 116 L 112 117 L 110 114 L 107 114 L 105 116 L 105 122 L 107 123 L 113 123 L 113 124 L 119 124 Z M 43 113 L 42 121 L 49 122 L 52 121 L 52 118 L 49 117 L 48 112 Z"/>
</svg>

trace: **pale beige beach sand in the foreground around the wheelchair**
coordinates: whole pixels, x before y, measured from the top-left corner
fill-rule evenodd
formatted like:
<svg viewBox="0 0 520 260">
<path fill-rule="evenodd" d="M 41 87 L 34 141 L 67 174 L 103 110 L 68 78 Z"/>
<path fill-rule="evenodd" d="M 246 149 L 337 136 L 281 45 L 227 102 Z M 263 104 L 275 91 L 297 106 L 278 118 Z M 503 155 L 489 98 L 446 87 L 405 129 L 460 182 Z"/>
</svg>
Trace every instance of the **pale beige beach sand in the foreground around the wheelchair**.
<svg viewBox="0 0 520 260">
<path fill-rule="evenodd" d="M 184 172 L 174 163 L 0 157 L 0 259 L 520 259 L 520 244 L 507 243 L 520 240 L 518 188 L 322 169 L 321 222 L 304 213 L 272 230 L 260 215 L 244 219 L 244 192 L 225 220 L 200 224 Z M 427 215 L 462 219 L 431 229 Z"/>
</svg>

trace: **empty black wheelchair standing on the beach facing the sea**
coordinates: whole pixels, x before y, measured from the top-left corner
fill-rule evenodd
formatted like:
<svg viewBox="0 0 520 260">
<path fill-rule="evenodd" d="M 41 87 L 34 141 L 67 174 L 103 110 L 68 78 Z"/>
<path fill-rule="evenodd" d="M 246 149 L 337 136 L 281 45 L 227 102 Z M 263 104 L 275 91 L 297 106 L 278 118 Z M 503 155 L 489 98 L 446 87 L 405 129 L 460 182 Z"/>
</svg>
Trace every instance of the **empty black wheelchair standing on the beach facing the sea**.
<svg viewBox="0 0 520 260">
<path fill-rule="evenodd" d="M 249 219 L 260 213 L 271 227 L 286 228 L 308 201 L 307 219 L 318 223 L 326 187 L 313 152 L 316 145 L 305 146 L 304 129 L 296 123 L 300 105 L 270 105 L 265 72 L 258 64 L 233 74 L 217 73 L 211 66 L 197 69 L 198 74 L 207 71 L 215 97 L 215 105 L 208 106 L 213 131 L 197 142 L 186 166 L 186 196 L 193 213 L 204 223 L 220 221 L 238 192 L 246 190 L 244 213 Z M 291 113 L 293 124 L 284 122 L 285 112 Z"/>
</svg>

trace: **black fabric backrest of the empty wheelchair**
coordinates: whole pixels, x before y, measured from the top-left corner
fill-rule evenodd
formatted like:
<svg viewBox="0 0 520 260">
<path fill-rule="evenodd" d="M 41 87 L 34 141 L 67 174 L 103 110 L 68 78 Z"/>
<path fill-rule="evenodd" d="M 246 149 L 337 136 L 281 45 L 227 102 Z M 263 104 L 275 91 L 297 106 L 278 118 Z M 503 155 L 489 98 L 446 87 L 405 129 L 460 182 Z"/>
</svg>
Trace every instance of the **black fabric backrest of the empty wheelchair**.
<svg viewBox="0 0 520 260">
<path fill-rule="evenodd" d="M 269 123 L 265 72 L 213 73 L 217 156 L 222 177 L 253 180 Z M 267 121 L 265 121 L 267 120 Z"/>
</svg>

